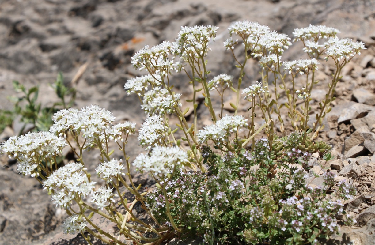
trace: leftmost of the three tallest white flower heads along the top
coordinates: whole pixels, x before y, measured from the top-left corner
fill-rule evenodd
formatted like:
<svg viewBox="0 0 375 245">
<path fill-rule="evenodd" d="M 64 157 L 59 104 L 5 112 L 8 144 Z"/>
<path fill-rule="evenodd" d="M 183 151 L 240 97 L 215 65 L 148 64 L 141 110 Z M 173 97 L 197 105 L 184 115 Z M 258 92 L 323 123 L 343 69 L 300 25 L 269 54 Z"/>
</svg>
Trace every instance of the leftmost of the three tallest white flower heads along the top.
<svg viewBox="0 0 375 245">
<path fill-rule="evenodd" d="M 209 50 L 208 42 L 215 40 L 217 29 L 219 27 L 213 25 L 181 26 L 176 42 L 173 43 L 174 53 L 185 61 L 189 58 L 204 56 Z"/>
</svg>

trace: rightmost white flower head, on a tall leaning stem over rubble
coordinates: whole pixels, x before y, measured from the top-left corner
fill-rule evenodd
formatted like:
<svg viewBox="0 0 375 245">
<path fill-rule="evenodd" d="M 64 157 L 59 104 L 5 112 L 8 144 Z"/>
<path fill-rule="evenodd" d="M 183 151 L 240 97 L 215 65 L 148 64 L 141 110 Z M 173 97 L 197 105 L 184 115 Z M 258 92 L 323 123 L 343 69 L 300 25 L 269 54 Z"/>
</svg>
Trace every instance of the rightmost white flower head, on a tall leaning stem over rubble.
<svg viewBox="0 0 375 245">
<path fill-rule="evenodd" d="M 326 54 L 324 57 L 325 60 L 328 60 L 328 57 L 332 57 L 334 60 L 345 60 L 350 59 L 356 54 L 361 54 L 362 49 L 366 49 L 365 43 L 363 42 L 353 42 L 351 39 L 340 39 L 338 37 L 330 37 L 326 43 Z"/>
</svg>

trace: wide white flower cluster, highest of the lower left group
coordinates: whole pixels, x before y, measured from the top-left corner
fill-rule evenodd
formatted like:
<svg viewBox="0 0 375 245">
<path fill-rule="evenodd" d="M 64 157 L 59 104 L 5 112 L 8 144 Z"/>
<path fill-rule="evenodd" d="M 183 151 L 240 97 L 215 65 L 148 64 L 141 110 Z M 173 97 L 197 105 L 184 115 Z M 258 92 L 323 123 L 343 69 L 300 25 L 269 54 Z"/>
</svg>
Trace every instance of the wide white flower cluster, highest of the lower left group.
<svg viewBox="0 0 375 245">
<path fill-rule="evenodd" d="M 55 113 L 54 124 L 49 131 L 58 136 L 66 137 L 66 131 L 75 131 L 86 138 L 86 146 L 95 146 L 96 139 L 102 144 L 108 139 L 115 141 L 122 139 L 122 133 L 135 133 L 135 124 L 130 122 L 112 125 L 115 117 L 110 111 L 100 108 L 97 105 L 87 106 L 80 111 L 77 109 L 63 109 Z"/>
</svg>

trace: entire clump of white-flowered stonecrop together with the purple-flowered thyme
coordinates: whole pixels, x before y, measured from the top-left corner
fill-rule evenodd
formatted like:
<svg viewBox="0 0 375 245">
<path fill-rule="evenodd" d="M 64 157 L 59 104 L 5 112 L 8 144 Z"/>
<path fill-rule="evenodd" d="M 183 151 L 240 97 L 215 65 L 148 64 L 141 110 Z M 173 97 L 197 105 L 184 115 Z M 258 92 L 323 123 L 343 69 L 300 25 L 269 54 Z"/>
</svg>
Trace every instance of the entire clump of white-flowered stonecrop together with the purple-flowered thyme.
<svg viewBox="0 0 375 245">
<path fill-rule="evenodd" d="M 136 134 L 136 125 L 114 124 L 111 112 L 94 105 L 58 111 L 49 131 L 10 137 L 1 146 L 1 152 L 17 158 L 18 171 L 36 178 L 68 213 L 65 232 L 80 232 L 89 244 L 93 237 L 105 244 L 162 244 L 180 235 L 201 237 L 206 244 L 319 244 L 339 232 L 339 222 L 354 222 L 342 209 L 343 200 L 356 193 L 354 187 L 336 183 L 331 172 L 324 175 L 323 188 L 312 187 L 305 175 L 311 153 L 330 149 L 316 139 L 335 100 L 342 67 L 364 44 L 339 39 L 335 28 L 310 25 L 296 29 L 293 40 L 303 42 L 308 58 L 285 61 L 290 37 L 239 21 L 229 27 L 224 43 L 239 73 L 211 76 L 207 56 L 217 29 L 182 27 L 175 42 L 146 45 L 132 57 L 132 66 L 148 73 L 124 86 L 128 95 L 138 96 L 146 115 L 138 129 L 145 152 L 133 161 L 127 141 Z M 311 93 L 321 57 L 335 69 L 311 122 Z M 259 61 L 262 81 L 244 87 L 251 83 L 244 72 L 251 58 Z M 185 73 L 192 88 L 186 95 L 188 107 L 182 107 L 183 96 L 174 89 L 175 72 Z M 233 113 L 224 112 L 228 93 L 236 96 L 230 104 Z M 209 125 L 201 125 L 199 96 L 204 97 Z M 244 99 L 248 113 L 239 110 Z M 297 107 L 299 100 L 303 103 Z M 264 120 L 259 128 L 257 114 Z M 113 145 L 121 159 L 111 157 Z M 56 156 L 66 146 L 77 160 L 58 168 Z M 88 172 L 92 163 L 87 151 L 93 148 L 100 152 L 96 175 L 103 186 Z M 148 173 L 154 187 L 137 185 L 132 166 Z M 327 194 L 329 188 L 333 194 Z M 135 212 L 137 205 L 141 211 Z M 106 230 L 93 215 L 117 230 Z"/>
</svg>

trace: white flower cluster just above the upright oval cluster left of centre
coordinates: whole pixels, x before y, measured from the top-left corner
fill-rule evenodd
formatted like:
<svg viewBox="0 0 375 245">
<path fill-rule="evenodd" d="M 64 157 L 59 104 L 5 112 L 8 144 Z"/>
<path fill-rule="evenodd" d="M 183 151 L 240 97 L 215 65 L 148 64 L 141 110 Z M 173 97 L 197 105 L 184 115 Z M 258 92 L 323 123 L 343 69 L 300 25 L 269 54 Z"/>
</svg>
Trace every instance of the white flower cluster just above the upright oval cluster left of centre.
<svg viewBox="0 0 375 245">
<path fill-rule="evenodd" d="M 165 88 L 156 87 L 144 94 L 142 110 L 148 115 L 171 114 L 177 106 L 181 106 L 181 94 L 170 95 Z"/>
</svg>

